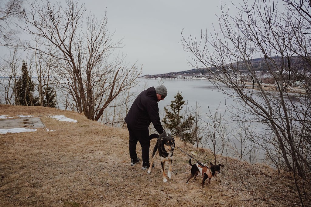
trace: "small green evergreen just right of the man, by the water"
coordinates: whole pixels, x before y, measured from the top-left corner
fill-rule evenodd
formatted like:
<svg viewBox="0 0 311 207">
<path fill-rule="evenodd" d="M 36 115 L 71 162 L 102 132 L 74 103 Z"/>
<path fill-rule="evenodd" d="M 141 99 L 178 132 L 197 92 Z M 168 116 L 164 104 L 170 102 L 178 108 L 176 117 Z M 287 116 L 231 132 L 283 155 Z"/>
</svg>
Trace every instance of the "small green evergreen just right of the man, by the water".
<svg viewBox="0 0 311 207">
<path fill-rule="evenodd" d="M 184 117 L 181 114 L 183 105 L 185 105 L 181 93 L 177 92 L 174 98 L 174 101 L 171 101 L 168 107 L 164 107 L 165 117 L 162 119 L 162 122 L 166 128 L 169 128 L 173 136 L 178 136 L 185 142 L 194 144 L 189 133 L 194 118 L 192 115 Z"/>
</svg>

